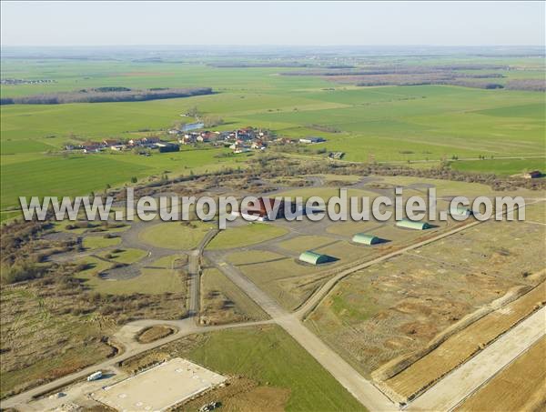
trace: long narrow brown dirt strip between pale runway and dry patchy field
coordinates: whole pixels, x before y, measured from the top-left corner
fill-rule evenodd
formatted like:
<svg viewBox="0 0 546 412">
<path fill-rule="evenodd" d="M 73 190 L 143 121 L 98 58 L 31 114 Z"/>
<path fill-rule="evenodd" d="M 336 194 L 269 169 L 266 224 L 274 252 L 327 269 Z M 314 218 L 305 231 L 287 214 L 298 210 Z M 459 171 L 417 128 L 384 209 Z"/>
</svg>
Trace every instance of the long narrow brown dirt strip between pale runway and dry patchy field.
<svg viewBox="0 0 546 412">
<path fill-rule="evenodd" d="M 546 283 L 541 283 L 519 299 L 501 306 L 472 323 L 470 327 L 449 337 L 428 355 L 421 357 L 410 367 L 399 372 L 398 375 L 386 380 L 385 387 L 396 392 L 404 401 L 416 396 L 421 390 L 430 387 L 440 377 L 459 366 L 480 348 L 486 347 L 493 339 L 499 337 L 522 318 L 530 315 L 534 309 L 545 302 Z M 380 369 L 395 370 L 397 365 L 403 365 L 411 360 L 411 357 L 406 361 L 400 359 L 394 365 Z"/>
</svg>

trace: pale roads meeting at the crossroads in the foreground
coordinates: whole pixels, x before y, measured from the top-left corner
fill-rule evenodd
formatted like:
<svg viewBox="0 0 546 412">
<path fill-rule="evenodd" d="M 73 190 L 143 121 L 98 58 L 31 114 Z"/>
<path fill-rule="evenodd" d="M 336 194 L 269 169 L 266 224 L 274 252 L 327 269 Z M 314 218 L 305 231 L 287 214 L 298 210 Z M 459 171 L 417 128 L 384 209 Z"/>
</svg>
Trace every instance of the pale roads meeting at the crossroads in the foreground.
<svg viewBox="0 0 546 412">
<path fill-rule="evenodd" d="M 536 202 L 542 201 L 542 200 L 544 199 L 537 199 Z M 528 204 L 528 206 L 529 205 L 531 204 Z M 497 216 L 501 216 L 501 213 L 498 213 Z M 72 383 L 75 379 L 86 377 L 86 375 L 89 375 L 98 369 L 107 369 L 108 367 L 112 367 L 119 361 L 125 360 L 129 357 L 134 357 L 149 349 L 159 347 L 168 342 L 172 342 L 180 337 L 184 337 L 188 334 L 203 333 L 207 331 L 225 329 L 230 327 L 248 327 L 248 326 L 263 325 L 263 324 L 269 324 L 269 323 L 277 323 L 280 327 L 283 327 L 290 336 L 294 337 L 294 339 L 296 339 L 296 341 L 298 341 L 298 343 L 302 347 L 308 350 L 308 353 L 311 356 L 315 357 L 319 361 L 319 363 L 323 367 L 325 367 L 329 371 L 329 373 L 332 374 L 332 376 L 335 377 L 343 387 L 346 387 L 349 390 L 349 392 L 354 397 L 356 397 L 359 400 L 359 402 L 361 402 L 364 406 L 368 407 L 371 410 L 398 410 L 398 407 L 394 403 L 392 403 L 388 397 L 386 397 L 383 393 L 381 393 L 377 387 L 374 387 L 368 380 L 361 377 L 359 373 L 356 372 L 352 367 L 350 367 L 350 365 L 344 359 L 339 357 L 337 353 L 335 353 L 330 347 L 324 344 L 319 339 L 319 337 L 316 337 L 313 333 L 311 333 L 308 330 L 307 327 L 304 327 L 303 324 L 300 322 L 299 318 L 306 317 L 308 313 L 312 311 L 313 308 L 319 304 L 321 299 L 329 293 L 329 291 L 339 282 L 341 278 L 348 276 L 349 274 L 354 273 L 358 270 L 361 270 L 362 268 L 365 268 L 365 267 L 377 264 L 383 260 L 389 259 L 392 256 L 397 256 L 408 250 L 427 245 L 436 240 L 440 240 L 441 238 L 444 238 L 446 236 L 450 236 L 455 233 L 458 233 L 461 230 L 465 230 L 466 228 L 469 228 L 471 226 L 479 225 L 480 223 L 482 222 L 479 222 L 479 221 L 472 222 L 469 225 L 458 227 L 449 232 L 440 234 L 439 236 L 433 236 L 428 240 L 420 242 L 419 244 L 402 248 L 396 252 L 392 252 L 385 256 L 380 256 L 377 259 L 373 259 L 361 265 L 346 269 L 340 272 L 339 275 L 330 279 L 329 282 L 327 282 L 324 286 L 320 287 L 318 292 L 316 292 L 313 296 L 311 296 L 308 302 L 306 302 L 306 304 L 301 306 L 295 314 L 289 314 L 285 309 L 278 306 L 278 303 L 275 300 L 270 298 L 265 292 L 259 289 L 258 286 L 256 286 L 253 282 L 251 282 L 246 276 L 238 272 L 238 269 L 235 268 L 234 266 L 230 266 L 226 262 L 215 261 L 214 264 L 218 266 L 218 268 L 220 268 L 220 270 L 222 270 L 226 274 L 226 276 L 228 276 L 236 285 L 238 285 L 249 297 L 251 297 L 255 302 L 257 302 L 258 305 L 261 306 L 268 313 L 268 315 L 272 317 L 271 320 L 262 321 L 262 322 L 249 322 L 245 324 L 232 324 L 232 325 L 217 326 L 217 327 L 197 327 L 197 325 L 194 322 L 194 319 L 192 319 L 191 317 L 185 320 L 173 321 L 173 322 L 162 321 L 162 320 L 137 321 L 137 322 L 131 323 L 127 327 L 139 326 L 141 328 L 141 327 L 147 327 L 152 325 L 167 324 L 167 325 L 175 325 L 178 327 L 179 330 L 176 334 L 173 334 L 169 337 L 165 337 L 164 339 L 157 340 L 156 342 L 153 342 L 151 344 L 136 345 L 136 344 L 129 343 L 128 346 L 126 346 L 126 351 L 123 354 L 117 357 L 108 359 L 105 362 L 102 362 L 95 366 L 86 367 L 85 369 L 79 372 L 76 372 L 75 374 L 71 374 L 69 376 L 56 379 L 56 381 L 50 382 L 41 387 L 35 387 L 34 389 L 26 391 L 25 393 L 22 393 L 15 397 L 5 399 L 5 401 L 1 403 L 1 407 L 14 407 L 17 404 L 26 403 L 32 400 L 32 398 L 35 397 L 36 395 L 42 394 L 45 391 L 51 391 L 51 390 L 55 390 L 56 387 L 66 386 Z M 197 294 L 198 294 L 198 290 L 197 290 Z M 542 316 L 544 316 L 543 315 L 544 312 L 542 310 L 540 313 L 542 314 Z M 541 325 L 541 327 L 542 329 L 544 329 L 543 325 Z M 118 335 L 118 337 L 122 337 L 122 338 L 123 336 L 124 336 L 123 334 Z M 128 337 L 128 336 L 134 336 L 134 335 L 126 334 L 126 336 Z M 486 352 L 486 350 L 487 348 L 484 349 L 482 353 Z M 487 353 L 489 353 L 489 351 Z M 437 385 L 440 385 L 440 383 L 443 382 L 443 380 L 444 379 L 442 379 Z M 450 385 L 453 386 L 454 385 L 453 382 L 451 382 Z M 422 398 L 425 400 L 421 400 L 421 402 L 426 402 L 427 397 L 425 396 L 428 393 L 429 392 L 425 392 L 425 394 L 419 397 L 418 400 Z M 440 393 L 441 391 L 438 392 L 438 394 Z M 431 395 L 430 397 L 433 397 L 433 395 Z M 434 398 L 432 398 L 430 402 L 432 402 L 433 400 Z M 455 399 L 454 402 L 455 401 L 459 402 L 460 397 Z M 415 401 L 412 404 L 412 407 L 419 407 L 419 406 L 420 404 L 418 404 L 417 401 Z M 428 409 L 430 410 L 430 407 L 428 407 Z"/>
</svg>

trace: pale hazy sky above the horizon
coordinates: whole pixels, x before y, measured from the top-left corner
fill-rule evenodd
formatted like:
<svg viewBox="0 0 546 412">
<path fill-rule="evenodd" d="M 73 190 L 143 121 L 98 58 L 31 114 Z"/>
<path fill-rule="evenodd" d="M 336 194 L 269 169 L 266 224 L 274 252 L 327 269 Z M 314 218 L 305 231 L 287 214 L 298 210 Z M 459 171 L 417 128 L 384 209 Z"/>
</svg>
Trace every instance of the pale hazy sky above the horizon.
<svg viewBox="0 0 546 412">
<path fill-rule="evenodd" d="M 544 45 L 541 2 L 1 2 L 2 45 Z"/>
</svg>

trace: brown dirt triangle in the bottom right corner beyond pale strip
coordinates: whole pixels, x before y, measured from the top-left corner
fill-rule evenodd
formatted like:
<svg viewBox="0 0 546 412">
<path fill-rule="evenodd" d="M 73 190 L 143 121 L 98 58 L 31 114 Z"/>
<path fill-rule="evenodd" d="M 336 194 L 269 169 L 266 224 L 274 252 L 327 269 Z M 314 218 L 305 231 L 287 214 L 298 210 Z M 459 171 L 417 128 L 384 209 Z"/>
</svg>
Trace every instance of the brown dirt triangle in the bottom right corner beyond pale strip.
<svg viewBox="0 0 546 412">
<path fill-rule="evenodd" d="M 539 412 L 546 408 L 546 337 L 542 337 L 525 354 L 517 358 L 455 410 L 520 410 Z"/>
</svg>

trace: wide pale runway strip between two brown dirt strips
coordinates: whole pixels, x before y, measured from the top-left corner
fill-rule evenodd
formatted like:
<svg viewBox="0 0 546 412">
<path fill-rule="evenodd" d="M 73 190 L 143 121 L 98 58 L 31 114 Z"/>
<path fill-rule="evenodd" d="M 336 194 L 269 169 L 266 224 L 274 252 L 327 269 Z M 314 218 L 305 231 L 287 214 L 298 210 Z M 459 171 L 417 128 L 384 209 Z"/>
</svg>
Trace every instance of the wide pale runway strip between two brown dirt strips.
<svg viewBox="0 0 546 412">
<path fill-rule="evenodd" d="M 512 328 L 478 355 L 443 377 L 408 410 L 451 410 L 546 335 L 546 307 Z"/>
</svg>

